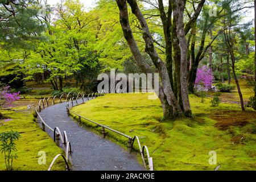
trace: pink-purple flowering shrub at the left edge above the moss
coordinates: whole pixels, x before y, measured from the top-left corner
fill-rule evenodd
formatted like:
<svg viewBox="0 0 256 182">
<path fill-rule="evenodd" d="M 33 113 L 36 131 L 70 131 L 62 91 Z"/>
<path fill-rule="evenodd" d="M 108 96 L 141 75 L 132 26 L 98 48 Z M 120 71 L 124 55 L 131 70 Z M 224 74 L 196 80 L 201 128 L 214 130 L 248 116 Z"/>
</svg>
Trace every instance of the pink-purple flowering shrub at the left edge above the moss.
<svg viewBox="0 0 256 182">
<path fill-rule="evenodd" d="M 2 89 L 0 88 L 0 106 L 8 105 L 11 106 L 11 104 L 14 101 L 18 101 L 20 99 L 19 93 L 10 93 L 10 86 L 5 86 Z"/>
</svg>

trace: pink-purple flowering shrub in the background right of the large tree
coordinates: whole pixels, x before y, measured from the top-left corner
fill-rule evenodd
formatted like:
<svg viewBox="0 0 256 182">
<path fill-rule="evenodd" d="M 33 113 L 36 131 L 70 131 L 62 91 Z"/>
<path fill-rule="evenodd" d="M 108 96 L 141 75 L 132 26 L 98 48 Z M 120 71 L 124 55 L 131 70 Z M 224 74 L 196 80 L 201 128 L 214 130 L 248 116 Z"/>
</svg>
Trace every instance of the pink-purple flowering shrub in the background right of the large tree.
<svg viewBox="0 0 256 182">
<path fill-rule="evenodd" d="M 214 80 L 212 69 L 203 66 L 197 69 L 195 89 L 197 91 L 209 91 Z"/>
</svg>

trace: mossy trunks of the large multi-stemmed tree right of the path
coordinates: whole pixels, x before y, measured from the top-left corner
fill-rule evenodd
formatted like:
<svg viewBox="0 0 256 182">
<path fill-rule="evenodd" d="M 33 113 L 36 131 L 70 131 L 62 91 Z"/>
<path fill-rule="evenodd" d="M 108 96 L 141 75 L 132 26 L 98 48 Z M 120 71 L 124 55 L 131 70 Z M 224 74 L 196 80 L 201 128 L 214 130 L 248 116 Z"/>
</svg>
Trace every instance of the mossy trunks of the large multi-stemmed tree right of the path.
<svg viewBox="0 0 256 182">
<path fill-rule="evenodd" d="M 197 3 L 195 12 L 193 16 L 191 16 L 191 19 L 188 20 L 187 24 L 184 24 L 186 1 L 170 0 L 167 7 L 167 13 L 163 1 L 158 1 L 157 9 L 160 13 L 160 19 L 162 20 L 164 40 L 166 44 L 166 61 L 163 61 L 156 51 L 156 46 L 154 45 L 156 41 L 152 37 L 146 18 L 142 14 L 137 1 L 116 0 L 116 2 L 119 7 L 120 23 L 123 34 L 129 44 L 135 60 L 137 61 L 138 67 L 141 68 L 144 73 L 151 73 L 151 67 L 146 63 L 138 48 L 137 42 L 134 39 L 133 31 L 131 30 L 129 22 L 129 10 L 127 3 L 131 7 L 131 12 L 139 21 L 140 28 L 143 32 L 143 39 L 146 47 L 145 50 L 151 57 L 151 60 L 156 69 L 158 69 L 160 75 L 161 82 L 159 88 L 159 99 L 163 106 L 164 118 L 174 119 L 181 115 L 191 116 L 192 111 L 189 104 L 187 81 L 188 44 L 186 35 L 191 30 L 192 24 L 196 22 L 205 1 L 201 0 Z M 174 55 L 172 55 L 172 49 L 174 50 Z M 173 63 L 175 68 L 174 76 L 172 75 Z"/>
</svg>

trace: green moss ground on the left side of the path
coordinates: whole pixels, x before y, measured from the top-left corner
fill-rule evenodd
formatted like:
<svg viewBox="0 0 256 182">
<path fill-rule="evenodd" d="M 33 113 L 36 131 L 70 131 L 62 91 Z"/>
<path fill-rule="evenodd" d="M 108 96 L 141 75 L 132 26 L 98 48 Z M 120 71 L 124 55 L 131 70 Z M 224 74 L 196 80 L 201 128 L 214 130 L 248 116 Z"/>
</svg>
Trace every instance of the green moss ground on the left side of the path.
<svg viewBox="0 0 256 182">
<path fill-rule="evenodd" d="M 26 106 L 13 108 L 14 110 L 25 110 Z M 18 171 L 46 171 L 53 158 L 57 154 L 63 154 L 63 151 L 56 146 L 47 133 L 42 131 L 36 122 L 31 111 L 17 112 L 0 110 L 5 117 L 12 119 L 0 125 L 0 133 L 5 131 L 18 131 L 21 135 L 16 141 L 16 154 L 18 159 L 14 160 L 14 170 Z M 38 164 L 38 152 L 46 152 L 46 165 Z M 5 170 L 4 156 L 0 153 L 0 171 Z M 65 170 L 65 164 L 57 160 L 52 170 Z"/>
</svg>

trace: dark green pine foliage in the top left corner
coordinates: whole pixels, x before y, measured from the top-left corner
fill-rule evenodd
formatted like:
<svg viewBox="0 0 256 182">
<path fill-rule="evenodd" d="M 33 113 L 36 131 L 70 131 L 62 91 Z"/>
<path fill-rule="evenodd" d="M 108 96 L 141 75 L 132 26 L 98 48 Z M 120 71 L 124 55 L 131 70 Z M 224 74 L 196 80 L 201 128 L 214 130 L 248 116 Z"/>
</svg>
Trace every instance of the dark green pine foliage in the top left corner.
<svg viewBox="0 0 256 182">
<path fill-rule="evenodd" d="M 41 39 L 44 24 L 38 19 L 39 1 L 0 1 L 0 42 L 5 48 L 32 48 Z"/>
</svg>

